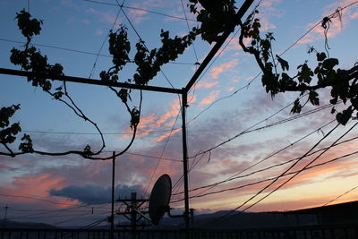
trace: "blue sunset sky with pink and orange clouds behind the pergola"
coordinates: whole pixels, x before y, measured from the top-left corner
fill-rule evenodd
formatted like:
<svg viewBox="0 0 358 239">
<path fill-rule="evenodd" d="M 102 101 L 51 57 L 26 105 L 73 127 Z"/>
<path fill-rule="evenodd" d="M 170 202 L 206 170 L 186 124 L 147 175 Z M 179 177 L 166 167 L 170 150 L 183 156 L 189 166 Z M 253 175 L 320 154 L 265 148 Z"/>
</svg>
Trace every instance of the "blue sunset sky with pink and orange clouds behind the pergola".
<svg viewBox="0 0 358 239">
<path fill-rule="evenodd" d="M 125 25 L 132 49 L 139 40 L 135 31 L 151 49 L 160 46 L 160 30 L 169 30 L 173 37 L 183 36 L 188 26 L 198 24 L 185 0 L 183 5 L 177 0 L 124 1 L 124 13 L 132 26 L 115 0 L 101 3 L 105 4 L 84 0 L 0 0 L 0 67 L 20 70 L 10 63 L 9 56 L 13 47 L 21 48 L 25 42 L 14 20 L 22 9 L 43 20 L 41 34 L 32 43 L 47 55 L 49 63 L 62 64 L 66 75 L 95 80 L 112 65 L 107 34 L 113 25 L 114 30 L 119 24 Z M 258 3 L 255 1 L 248 13 Z M 294 75 L 297 65 L 305 61 L 315 64 L 315 56 L 307 54 L 309 47 L 325 51 L 323 29 L 320 24 L 312 27 L 349 4 L 352 5 L 345 8 L 341 19 L 332 18 L 328 30 L 329 55 L 339 59 L 339 67 L 349 69 L 357 62 L 358 4 L 353 0 L 262 0 L 258 17 L 261 30 L 274 33 L 274 53 L 284 53 L 281 57 L 289 62 L 290 73 Z M 329 101 L 328 90 L 319 92 L 320 107 L 308 104 L 301 115 L 291 114 L 298 93 L 271 98 L 257 76 L 259 66 L 252 55 L 243 53 L 237 38 L 234 33 L 229 36 L 224 48 L 189 92 L 186 126 L 190 207 L 197 213 L 236 209 L 273 178 L 288 169 L 287 173 L 297 172 L 304 166 L 309 168 L 279 190 L 273 192 L 290 175 L 278 179 L 240 209 L 266 196 L 248 211 L 286 211 L 322 206 L 329 201 L 332 204 L 356 201 L 358 164 L 353 153 L 358 132 L 355 128 L 347 132 L 356 122 L 352 120 L 328 134 L 336 126 L 335 122 L 330 123 L 335 119 L 330 114 L 331 107 L 325 107 Z M 185 87 L 197 69 L 195 63 L 201 63 L 211 47 L 198 37 L 174 63 L 163 66 L 162 73 L 149 81 L 149 85 Z M 133 73 L 135 65 L 127 64 L 120 80 L 131 79 Z M 61 82 L 54 85 L 61 86 Z M 123 150 L 132 131 L 130 118 L 119 98 L 102 86 L 67 83 L 67 88 L 76 104 L 104 133 L 107 147 L 101 156 Z M 131 192 L 148 198 L 158 177 L 168 174 L 174 185 L 170 206 L 183 209 L 179 98 L 169 93 L 143 92 L 137 138 L 128 152 L 115 161 L 116 199 L 130 197 Z M 138 107 L 139 100 L 138 90 L 132 90 L 131 106 Z M 30 134 L 35 149 L 81 150 L 87 144 L 92 149 L 100 148 L 100 136 L 93 125 L 31 86 L 23 77 L 0 75 L 0 102 L 0 107 L 21 104 L 12 122 L 21 123 L 21 135 Z M 343 104 L 337 106 L 343 107 Z M 317 158 L 322 149 L 342 135 L 335 147 Z M 310 156 L 294 164 L 323 138 Z M 18 141 L 11 147 L 16 150 Z M 3 146 L 0 150 L 5 151 Z M 6 212 L 6 218 L 11 220 L 55 226 L 86 226 L 106 219 L 110 214 L 111 173 L 110 160 L 89 160 L 76 155 L 0 156 L 0 218 Z M 227 182 L 217 184 L 222 181 Z M 268 195 L 270 192 L 273 193 Z M 116 209 L 120 207 L 116 203 Z"/>
</svg>

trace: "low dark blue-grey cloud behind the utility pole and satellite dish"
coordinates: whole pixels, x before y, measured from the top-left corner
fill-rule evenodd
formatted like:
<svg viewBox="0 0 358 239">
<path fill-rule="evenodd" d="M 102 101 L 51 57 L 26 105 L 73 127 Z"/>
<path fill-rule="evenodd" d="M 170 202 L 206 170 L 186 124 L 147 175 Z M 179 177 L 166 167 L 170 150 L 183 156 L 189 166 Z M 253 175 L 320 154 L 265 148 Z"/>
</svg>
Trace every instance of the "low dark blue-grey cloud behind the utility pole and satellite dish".
<svg viewBox="0 0 358 239">
<path fill-rule="evenodd" d="M 144 194 L 141 185 L 115 186 L 115 198 L 130 198 L 131 192 L 137 192 L 137 195 Z M 111 201 L 112 189 L 111 187 L 102 187 L 94 184 L 86 185 L 69 185 L 62 189 L 51 189 L 50 195 L 64 197 L 71 200 L 83 202 L 87 205 L 103 204 Z"/>
</svg>

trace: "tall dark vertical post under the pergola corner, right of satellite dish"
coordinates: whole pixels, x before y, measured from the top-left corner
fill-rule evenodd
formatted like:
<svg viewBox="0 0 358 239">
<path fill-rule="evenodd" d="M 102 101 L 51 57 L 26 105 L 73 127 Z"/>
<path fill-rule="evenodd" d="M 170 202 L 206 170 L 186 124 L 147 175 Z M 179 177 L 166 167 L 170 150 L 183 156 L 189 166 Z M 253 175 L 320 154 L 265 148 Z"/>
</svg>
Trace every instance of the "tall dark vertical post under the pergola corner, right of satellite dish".
<svg viewBox="0 0 358 239">
<path fill-rule="evenodd" d="M 184 219 L 185 229 L 188 230 L 190 226 L 190 209 L 189 209 L 189 182 L 188 182 L 188 149 L 186 145 L 186 122 L 185 110 L 188 104 L 188 92 L 183 88 L 182 93 L 182 135 L 183 135 L 183 179 L 184 179 Z"/>
</svg>

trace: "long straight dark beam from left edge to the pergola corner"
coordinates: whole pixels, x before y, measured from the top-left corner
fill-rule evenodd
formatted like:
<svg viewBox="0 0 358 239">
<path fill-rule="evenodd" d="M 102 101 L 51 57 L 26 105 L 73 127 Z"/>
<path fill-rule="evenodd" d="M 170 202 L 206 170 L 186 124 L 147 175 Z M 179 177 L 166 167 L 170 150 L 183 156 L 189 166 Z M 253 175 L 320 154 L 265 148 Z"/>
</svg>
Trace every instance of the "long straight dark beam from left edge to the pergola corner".
<svg viewBox="0 0 358 239">
<path fill-rule="evenodd" d="M 19 71 L 13 69 L 0 68 L 1 74 L 10 74 L 10 75 L 18 75 L 18 76 L 38 76 L 43 77 L 53 81 L 69 81 L 83 84 L 92 84 L 92 85 L 102 85 L 102 86 L 112 86 L 112 87 L 120 87 L 125 89 L 135 89 L 135 90 L 148 90 L 148 91 L 157 91 L 164 93 L 174 93 L 174 94 L 182 94 L 182 89 L 173 89 L 173 88 L 165 88 L 158 86 L 148 86 L 148 85 L 137 85 L 137 84 L 128 84 L 121 82 L 113 82 L 113 81 L 101 81 L 101 80 L 93 80 L 88 78 L 67 76 L 67 75 L 49 75 L 45 73 L 32 73 L 26 71 Z"/>
</svg>

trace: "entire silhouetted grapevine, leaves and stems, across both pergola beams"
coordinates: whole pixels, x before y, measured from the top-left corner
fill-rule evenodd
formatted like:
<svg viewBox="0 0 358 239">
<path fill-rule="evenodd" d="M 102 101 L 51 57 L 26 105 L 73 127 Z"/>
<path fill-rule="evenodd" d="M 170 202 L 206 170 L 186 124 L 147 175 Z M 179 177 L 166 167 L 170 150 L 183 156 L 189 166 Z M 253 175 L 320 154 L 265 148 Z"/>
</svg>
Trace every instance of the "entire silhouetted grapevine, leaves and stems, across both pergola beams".
<svg viewBox="0 0 358 239">
<path fill-rule="evenodd" d="M 170 61 L 175 61 L 178 55 L 183 54 L 184 50 L 192 45 L 192 42 L 197 36 L 209 42 L 217 42 L 225 30 L 232 30 L 233 22 L 237 22 L 234 0 L 189 0 L 188 4 L 190 11 L 197 17 L 199 26 L 193 28 L 187 35 L 183 37 L 175 36 L 170 38 L 170 34 L 166 30 L 161 30 L 160 40 L 161 47 L 149 50 L 143 40 L 139 40 L 135 44 L 134 60 L 131 61 L 129 55 L 132 52 L 131 42 L 128 40 L 127 29 L 124 25 L 120 25 L 118 30 L 113 30 L 109 33 L 109 48 L 108 51 L 112 55 L 111 66 L 106 71 L 99 74 L 101 81 L 125 82 L 134 83 L 138 85 L 147 85 L 149 81 L 153 80 L 160 72 L 161 67 Z M 318 52 L 311 47 L 310 54 L 316 54 L 317 64 L 310 66 L 307 61 L 296 66 L 292 73 L 292 66 L 280 55 L 274 55 L 272 42 L 275 40 L 273 33 L 262 34 L 260 32 L 260 19 L 257 18 L 259 13 L 257 8 L 247 17 L 243 22 L 239 22 L 241 27 L 241 34 L 238 38 L 240 46 L 243 51 L 254 56 L 257 64 L 262 71 L 261 82 L 265 90 L 274 98 L 278 93 L 286 91 L 299 92 L 300 97 L 294 101 L 293 113 L 300 113 L 302 108 L 310 102 L 313 106 L 320 105 L 320 95 L 318 90 L 328 88 L 330 89 L 330 103 L 334 105 L 332 114 L 337 117 L 337 122 L 346 124 L 353 116 L 357 116 L 358 111 L 358 65 L 354 64 L 350 69 L 338 68 L 339 61 L 337 58 L 329 56 L 327 33 L 329 30 L 329 23 L 332 18 L 339 17 L 341 19 L 341 10 L 325 17 L 321 21 L 321 27 L 324 28 L 326 43 L 326 52 Z M 107 159 L 100 158 L 99 154 L 105 149 L 106 143 L 98 124 L 90 120 L 84 114 L 80 107 L 71 98 L 64 81 L 63 86 L 53 89 L 51 77 L 64 75 L 64 69 L 61 64 L 49 64 L 47 56 L 42 55 L 41 52 L 31 45 L 31 39 L 40 34 L 43 21 L 36 18 L 31 18 L 30 13 L 21 10 L 16 13 L 19 30 L 27 39 L 25 46 L 22 49 L 13 48 L 11 50 L 10 61 L 19 65 L 21 69 L 31 72 L 28 81 L 34 86 L 41 88 L 44 92 L 60 101 L 72 112 L 94 126 L 102 141 L 100 149 L 93 151 L 90 145 L 86 145 L 81 150 L 70 150 L 66 152 L 44 152 L 35 149 L 30 135 L 23 134 L 21 143 L 18 146 L 18 151 L 13 149 L 13 144 L 16 141 L 18 134 L 21 132 L 21 124 L 11 124 L 11 117 L 20 109 L 20 105 L 13 105 L 10 107 L 2 107 L 0 109 L 0 143 L 7 150 L 0 152 L 0 155 L 7 155 L 15 157 L 16 155 L 24 153 L 38 153 L 42 155 L 66 155 L 78 154 L 83 158 L 91 159 Z M 244 44 L 244 38 L 249 40 L 249 44 Z M 132 79 L 121 79 L 121 71 L 125 64 L 133 62 L 137 65 Z M 291 69 L 291 71 L 290 71 Z M 115 89 L 109 87 L 121 102 L 123 102 L 128 114 L 131 117 L 130 126 L 132 128 L 132 140 L 129 144 L 117 155 L 124 153 L 132 145 L 137 132 L 138 124 L 141 119 L 141 102 L 139 106 L 134 105 L 131 97 L 131 90 Z M 302 96 L 308 95 L 306 102 L 302 103 Z M 345 109 L 338 112 L 336 105 L 338 101 L 343 101 Z M 108 157 L 111 158 L 111 157 Z"/>
</svg>

